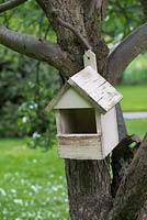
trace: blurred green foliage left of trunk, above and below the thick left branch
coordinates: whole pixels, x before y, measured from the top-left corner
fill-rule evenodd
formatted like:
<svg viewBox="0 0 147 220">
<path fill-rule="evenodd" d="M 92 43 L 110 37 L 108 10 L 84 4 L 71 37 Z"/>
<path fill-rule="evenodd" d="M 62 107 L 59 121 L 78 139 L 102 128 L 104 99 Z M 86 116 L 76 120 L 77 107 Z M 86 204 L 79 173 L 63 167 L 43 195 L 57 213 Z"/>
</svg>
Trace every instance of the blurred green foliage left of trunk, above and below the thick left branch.
<svg viewBox="0 0 147 220">
<path fill-rule="evenodd" d="M 32 0 L 0 14 L 0 24 L 56 42 L 47 19 Z M 59 87 L 56 69 L 0 46 L 0 138 L 30 135 L 30 146 L 49 147 L 55 119 L 44 109 Z"/>
</svg>

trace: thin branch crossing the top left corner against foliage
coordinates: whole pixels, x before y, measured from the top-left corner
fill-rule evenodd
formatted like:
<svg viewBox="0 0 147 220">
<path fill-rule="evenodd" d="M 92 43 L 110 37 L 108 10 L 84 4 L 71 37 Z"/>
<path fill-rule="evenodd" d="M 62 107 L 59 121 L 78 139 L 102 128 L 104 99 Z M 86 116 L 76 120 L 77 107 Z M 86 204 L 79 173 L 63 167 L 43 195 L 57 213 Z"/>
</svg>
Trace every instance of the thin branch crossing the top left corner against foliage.
<svg viewBox="0 0 147 220">
<path fill-rule="evenodd" d="M 0 4 L 0 13 L 19 7 L 20 4 L 24 3 L 27 0 L 11 0 Z"/>
</svg>

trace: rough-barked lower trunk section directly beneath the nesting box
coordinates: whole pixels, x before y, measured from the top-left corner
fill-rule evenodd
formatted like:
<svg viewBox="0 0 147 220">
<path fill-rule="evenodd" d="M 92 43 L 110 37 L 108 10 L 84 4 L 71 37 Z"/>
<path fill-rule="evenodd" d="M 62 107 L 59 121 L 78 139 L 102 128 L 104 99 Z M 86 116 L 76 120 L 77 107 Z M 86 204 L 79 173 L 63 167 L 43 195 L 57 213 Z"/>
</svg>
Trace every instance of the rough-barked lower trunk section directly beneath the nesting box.
<svg viewBox="0 0 147 220">
<path fill-rule="evenodd" d="M 72 220 L 104 220 L 112 207 L 106 161 L 66 160 Z"/>
</svg>

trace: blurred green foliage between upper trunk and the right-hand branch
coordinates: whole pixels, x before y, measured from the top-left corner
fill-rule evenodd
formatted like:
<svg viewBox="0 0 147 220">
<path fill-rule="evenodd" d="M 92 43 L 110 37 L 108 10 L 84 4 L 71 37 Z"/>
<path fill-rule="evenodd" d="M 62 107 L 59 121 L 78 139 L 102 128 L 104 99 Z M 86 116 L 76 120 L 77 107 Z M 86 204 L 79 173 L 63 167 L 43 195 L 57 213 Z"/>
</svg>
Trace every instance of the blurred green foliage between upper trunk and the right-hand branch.
<svg viewBox="0 0 147 220">
<path fill-rule="evenodd" d="M 103 36 L 110 46 L 114 46 L 143 22 L 139 1 L 110 0 L 102 26 Z"/>
</svg>

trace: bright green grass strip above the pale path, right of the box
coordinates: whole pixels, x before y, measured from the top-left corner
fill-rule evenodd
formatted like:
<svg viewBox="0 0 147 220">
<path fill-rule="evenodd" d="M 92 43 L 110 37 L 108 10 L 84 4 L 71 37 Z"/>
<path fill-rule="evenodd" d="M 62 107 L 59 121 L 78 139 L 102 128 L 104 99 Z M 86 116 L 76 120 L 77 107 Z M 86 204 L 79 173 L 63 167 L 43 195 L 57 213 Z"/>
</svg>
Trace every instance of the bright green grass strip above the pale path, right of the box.
<svg viewBox="0 0 147 220">
<path fill-rule="evenodd" d="M 123 111 L 147 111 L 147 86 L 117 86 Z"/>
</svg>

